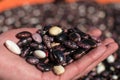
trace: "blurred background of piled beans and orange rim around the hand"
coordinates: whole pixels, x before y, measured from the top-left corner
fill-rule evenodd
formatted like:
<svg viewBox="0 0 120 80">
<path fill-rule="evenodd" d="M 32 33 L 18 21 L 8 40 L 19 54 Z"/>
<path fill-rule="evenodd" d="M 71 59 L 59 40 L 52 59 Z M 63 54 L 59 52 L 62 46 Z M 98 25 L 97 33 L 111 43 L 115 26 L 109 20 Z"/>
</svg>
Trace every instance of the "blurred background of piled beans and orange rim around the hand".
<svg viewBox="0 0 120 80">
<path fill-rule="evenodd" d="M 120 0 L 0 0 L 0 34 L 11 29 L 45 25 L 97 27 L 120 45 Z M 80 79 L 78 79 L 80 80 Z M 82 80 L 120 80 L 120 49 Z"/>
</svg>

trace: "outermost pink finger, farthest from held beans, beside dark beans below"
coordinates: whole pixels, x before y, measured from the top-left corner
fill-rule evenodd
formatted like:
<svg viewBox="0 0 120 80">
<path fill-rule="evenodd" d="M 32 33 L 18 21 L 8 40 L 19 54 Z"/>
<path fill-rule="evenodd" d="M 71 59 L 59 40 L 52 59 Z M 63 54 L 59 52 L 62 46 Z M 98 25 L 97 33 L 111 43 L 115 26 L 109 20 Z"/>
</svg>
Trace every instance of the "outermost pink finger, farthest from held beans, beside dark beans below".
<svg viewBox="0 0 120 80">
<path fill-rule="evenodd" d="M 99 64 L 101 61 L 103 61 L 104 59 L 106 59 L 109 55 L 111 55 L 112 53 L 114 53 L 117 49 L 118 49 L 117 43 L 113 42 L 113 43 L 109 44 L 108 47 L 107 47 L 107 50 L 105 51 L 105 53 L 99 59 L 97 59 L 94 63 L 92 63 L 82 74 L 80 74 L 79 77 L 80 76 L 82 77 L 85 74 L 87 74 L 97 64 Z"/>
</svg>

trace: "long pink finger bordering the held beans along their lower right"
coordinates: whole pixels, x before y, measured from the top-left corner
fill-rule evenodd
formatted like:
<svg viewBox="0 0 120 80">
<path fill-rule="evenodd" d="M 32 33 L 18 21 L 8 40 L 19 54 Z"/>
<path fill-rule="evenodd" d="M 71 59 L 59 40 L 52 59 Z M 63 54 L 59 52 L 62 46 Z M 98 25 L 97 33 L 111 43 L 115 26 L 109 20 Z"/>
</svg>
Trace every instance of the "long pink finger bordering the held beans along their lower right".
<svg viewBox="0 0 120 80">
<path fill-rule="evenodd" d="M 68 65 L 66 67 L 65 73 L 61 75 L 61 80 L 70 80 L 71 78 L 78 75 L 80 72 L 86 69 L 91 63 L 93 63 L 100 56 L 102 56 L 105 50 L 106 50 L 106 47 L 104 45 L 101 45 L 93 49 L 92 51 L 90 51 L 88 54 L 83 56 L 81 59 Z M 69 77 L 66 77 L 68 75 Z"/>
</svg>

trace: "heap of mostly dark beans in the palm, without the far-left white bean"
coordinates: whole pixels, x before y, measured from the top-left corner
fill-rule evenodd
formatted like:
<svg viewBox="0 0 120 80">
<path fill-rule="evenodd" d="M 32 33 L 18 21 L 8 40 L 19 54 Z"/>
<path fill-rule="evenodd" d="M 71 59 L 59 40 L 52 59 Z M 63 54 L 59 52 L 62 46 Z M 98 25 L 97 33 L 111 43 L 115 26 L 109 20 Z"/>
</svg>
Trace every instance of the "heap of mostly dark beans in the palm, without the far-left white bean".
<svg viewBox="0 0 120 80">
<path fill-rule="evenodd" d="M 99 40 L 77 28 L 62 29 L 58 26 L 45 26 L 34 34 L 23 31 L 16 37 L 20 39 L 17 44 L 21 57 L 43 72 L 53 70 L 57 75 L 65 72 L 64 66 L 100 44 Z"/>
</svg>

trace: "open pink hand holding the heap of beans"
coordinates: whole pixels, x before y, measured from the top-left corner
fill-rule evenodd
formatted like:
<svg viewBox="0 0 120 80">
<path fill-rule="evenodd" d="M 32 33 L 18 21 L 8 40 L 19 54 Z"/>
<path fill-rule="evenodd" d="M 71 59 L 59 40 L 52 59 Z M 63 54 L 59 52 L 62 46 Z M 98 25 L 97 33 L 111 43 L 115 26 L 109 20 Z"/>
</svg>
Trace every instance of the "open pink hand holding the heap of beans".
<svg viewBox="0 0 120 80">
<path fill-rule="evenodd" d="M 105 39 L 102 44 L 83 56 L 81 59 L 65 67 L 65 73 L 56 76 L 52 71 L 41 72 L 33 65 L 28 64 L 23 58 L 11 53 L 5 46 L 6 40 L 17 42 L 15 35 L 21 31 L 30 31 L 35 33 L 37 29 L 22 28 L 5 32 L 0 35 L 0 80 L 71 80 L 82 77 L 93 69 L 99 62 L 103 61 L 109 55 L 118 49 L 117 43 L 111 39 Z M 99 37 L 101 31 L 95 29 L 88 32 L 94 37 Z"/>
</svg>

